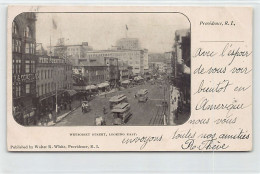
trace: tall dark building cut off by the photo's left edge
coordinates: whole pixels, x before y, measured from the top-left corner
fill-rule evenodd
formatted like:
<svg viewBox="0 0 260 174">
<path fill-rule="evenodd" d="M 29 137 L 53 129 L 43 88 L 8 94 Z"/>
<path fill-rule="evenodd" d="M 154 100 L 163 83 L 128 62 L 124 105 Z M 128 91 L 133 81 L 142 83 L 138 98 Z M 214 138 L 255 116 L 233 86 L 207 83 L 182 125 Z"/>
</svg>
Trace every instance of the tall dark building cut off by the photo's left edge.
<svg viewBox="0 0 260 174">
<path fill-rule="evenodd" d="M 21 13 L 12 23 L 12 81 L 14 119 L 34 124 L 36 98 L 35 13 Z"/>
</svg>

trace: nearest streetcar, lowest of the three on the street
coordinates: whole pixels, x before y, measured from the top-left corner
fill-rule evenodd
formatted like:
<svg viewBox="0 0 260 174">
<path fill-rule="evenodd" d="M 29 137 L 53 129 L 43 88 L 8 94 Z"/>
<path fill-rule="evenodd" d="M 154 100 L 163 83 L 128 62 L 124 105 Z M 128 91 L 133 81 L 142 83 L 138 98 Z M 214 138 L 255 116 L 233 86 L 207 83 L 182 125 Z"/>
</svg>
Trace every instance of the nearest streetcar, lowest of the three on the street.
<svg viewBox="0 0 260 174">
<path fill-rule="evenodd" d="M 113 113 L 114 125 L 125 124 L 132 115 L 129 103 L 120 103 L 111 112 Z"/>
</svg>

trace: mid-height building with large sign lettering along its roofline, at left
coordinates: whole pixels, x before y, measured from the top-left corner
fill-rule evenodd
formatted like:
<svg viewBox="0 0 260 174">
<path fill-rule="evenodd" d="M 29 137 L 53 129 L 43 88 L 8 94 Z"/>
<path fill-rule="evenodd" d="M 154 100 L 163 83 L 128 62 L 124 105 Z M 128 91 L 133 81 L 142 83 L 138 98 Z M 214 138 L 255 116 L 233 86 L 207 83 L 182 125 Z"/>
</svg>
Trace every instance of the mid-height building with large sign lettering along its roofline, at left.
<svg viewBox="0 0 260 174">
<path fill-rule="evenodd" d="M 69 99 L 64 96 L 72 89 L 72 65 L 63 58 L 39 56 L 36 71 L 38 113 L 44 113 L 46 108 L 54 111 L 56 104 L 60 105 Z"/>
</svg>

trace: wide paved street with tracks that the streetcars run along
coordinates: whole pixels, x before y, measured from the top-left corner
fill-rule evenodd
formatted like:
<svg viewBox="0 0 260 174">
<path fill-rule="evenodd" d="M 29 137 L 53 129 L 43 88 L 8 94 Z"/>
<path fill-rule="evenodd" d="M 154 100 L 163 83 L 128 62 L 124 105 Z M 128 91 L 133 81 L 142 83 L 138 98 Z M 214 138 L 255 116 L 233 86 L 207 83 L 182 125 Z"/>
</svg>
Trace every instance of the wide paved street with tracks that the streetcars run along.
<svg viewBox="0 0 260 174">
<path fill-rule="evenodd" d="M 82 113 L 81 108 L 76 109 L 56 126 L 93 126 L 95 125 L 95 117 L 103 116 L 103 107 L 106 106 L 108 113 L 105 116 L 106 124 L 112 125 L 113 116 L 109 109 L 109 99 L 117 94 L 125 94 L 128 98 L 128 102 L 131 105 L 132 116 L 126 123 L 131 126 L 148 126 L 148 125 L 163 125 L 162 106 L 161 103 L 164 99 L 164 88 L 166 88 L 166 100 L 169 103 L 169 86 L 163 84 L 162 86 L 155 84 L 151 85 L 146 83 L 144 85 L 138 85 L 133 88 L 123 89 L 109 93 L 106 97 L 96 96 L 95 99 L 90 101 L 91 111 Z M 148 101 L 145 103 L 138 103 L 138 100 L 134 98 L 135 93 L 139 89 L 148 89 Z M 167 110 L 167 114 L 169 111 Z"/>
</svg>

